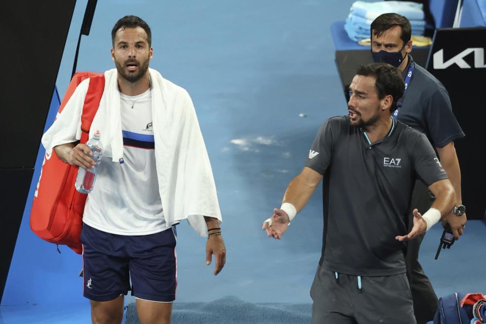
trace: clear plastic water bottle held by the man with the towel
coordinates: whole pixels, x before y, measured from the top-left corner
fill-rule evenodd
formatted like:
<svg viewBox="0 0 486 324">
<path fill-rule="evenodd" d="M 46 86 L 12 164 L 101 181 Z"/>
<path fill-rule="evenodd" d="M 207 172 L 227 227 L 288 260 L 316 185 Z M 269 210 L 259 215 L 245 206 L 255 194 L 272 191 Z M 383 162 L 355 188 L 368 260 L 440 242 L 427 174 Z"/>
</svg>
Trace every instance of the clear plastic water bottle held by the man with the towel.
<svg viewBox="0 0 486 324">
<path fill-rule="evenodd" d="M 81 193 L 90 193 L 93 191 L 93 186 L 95 185 L 96 180 L 96 172 L 101 163 L 101 155 L 103 154 L 103 144 L 100 141 L 100 137 L 100 131 L 96 131 L 93 138 L 86 143 L 86 146 L 88 146 L 93 152 L 91 158 L 95 161 L 95 168 L 88 169 L 88 171 L 83 168 L 79 168 L 77 171 L 75 187 L 76 190 Z"/>
</svg>

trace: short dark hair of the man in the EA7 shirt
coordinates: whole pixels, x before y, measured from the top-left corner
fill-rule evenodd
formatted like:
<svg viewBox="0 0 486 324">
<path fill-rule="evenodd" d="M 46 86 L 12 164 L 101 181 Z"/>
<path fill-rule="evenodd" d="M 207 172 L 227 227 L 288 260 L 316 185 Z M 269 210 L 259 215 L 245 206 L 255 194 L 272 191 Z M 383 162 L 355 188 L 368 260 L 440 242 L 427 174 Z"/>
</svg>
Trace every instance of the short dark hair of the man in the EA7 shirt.
<svg viewBox="0 0 486 324">
<path fill-rule="evenodd" d="M 397 102 L 403 97 L 403 91 L 405 91 L 405 84 L 399 69 L 388 63 L 372 63 L 360 65 L 356 75 L 375 77 L 378 99 L 381 100 L 385 96 L 391 95 L 393 101 L 390 106 L 390 112 L 396 110 Z"/>
</svg>

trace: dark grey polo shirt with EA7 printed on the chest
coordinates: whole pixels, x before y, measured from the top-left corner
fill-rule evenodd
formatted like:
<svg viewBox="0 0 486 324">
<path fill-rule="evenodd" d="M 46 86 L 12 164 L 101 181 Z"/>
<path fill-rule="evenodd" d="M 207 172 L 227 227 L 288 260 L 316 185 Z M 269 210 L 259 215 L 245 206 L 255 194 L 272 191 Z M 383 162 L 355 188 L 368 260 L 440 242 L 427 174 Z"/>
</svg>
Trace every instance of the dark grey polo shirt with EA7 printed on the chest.
<svg viewBox="0 0 486 324">
<path fill-rule="evenodd" d="M 322 267 L 350 275 L 405 272 L 404 243 L 416 179 L 446 179 L 426 136 L 395 121 L 384 139 L 333 117 L 319 129 L 306 167 L 324 175 Z M 425 211 L 419 211 L 424 213 Z"/>
</svg>

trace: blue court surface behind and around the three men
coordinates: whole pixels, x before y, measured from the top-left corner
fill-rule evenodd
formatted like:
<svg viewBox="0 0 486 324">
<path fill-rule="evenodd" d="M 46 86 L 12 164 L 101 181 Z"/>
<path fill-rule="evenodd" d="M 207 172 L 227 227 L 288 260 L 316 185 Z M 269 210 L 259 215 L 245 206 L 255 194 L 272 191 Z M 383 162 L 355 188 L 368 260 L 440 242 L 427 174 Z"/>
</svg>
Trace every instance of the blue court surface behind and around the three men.
<svg viewBox="0 0 486 324">
<path fill-rule="evenodd" d="M 214 265 L 205 264 L 205 239 L 185 222 L 178 226 L 174 323 L 310 321 L 309 290 L 322 239 L 320 187 L 282 240 L 268 238 L 261 226 L 301 171 L 322 121 L 347 114 L 330 25 L 345 19 L 352 2 L 98 2 L 91 33 L 82 38 L 77 70 L 113 68 L 110 31 L 116 20 L 127 14 L 146 20 L 154 48 L 150 66 L 191 95 L 212 163 L 226 266 L 214 276 Z M 86 1 L 77 1 L 57 80 L 61 97 L 85 8 Z M 59 255 L 34 237 L 29 209 L 0 323 L 89 322 L 89 302 L 77 277 L 80 256 L 66 248 Z M 483 221 L 468 222 L 465 235 L 437 261 L 440 225 L 427 233 L 420 261 L 438 296 L 486 291 L 485 229 Z M 133 302 L 126 298 L 129 307 Z"/>
</svg>

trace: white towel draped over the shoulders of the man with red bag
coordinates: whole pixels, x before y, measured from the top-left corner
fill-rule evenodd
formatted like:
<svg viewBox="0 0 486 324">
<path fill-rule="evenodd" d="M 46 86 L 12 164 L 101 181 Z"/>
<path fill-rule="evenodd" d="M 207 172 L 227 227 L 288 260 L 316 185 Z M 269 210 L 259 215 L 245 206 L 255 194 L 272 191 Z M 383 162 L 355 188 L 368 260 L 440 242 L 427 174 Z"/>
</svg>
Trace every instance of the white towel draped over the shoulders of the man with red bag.
<svg viewBox="0 0 486 324">
<path fill-rule="evenodd" d="M 155 142 L 155 164 L 164 217 L 167 224 L 187 219 L 199 235 L 207 236 L 203 216 L 221 222 L 216 185 L 203 135 L 192 100 L 183 88 L 149 69 L 152 89 L 152 117 Z M 123 158 L 123 136 L 120 120 L 120 94 L 117 71 L 105 72 L 105 90 L 93 119 L 90 138 L 96 130 L 106 156 L 112 163 Z M 81 113 L 89 79 L 76 88 L 55 123 L 44 134 L 47 152 L 54 146 L 81 138 Z"/>
</svg>

